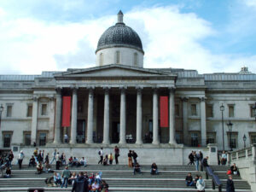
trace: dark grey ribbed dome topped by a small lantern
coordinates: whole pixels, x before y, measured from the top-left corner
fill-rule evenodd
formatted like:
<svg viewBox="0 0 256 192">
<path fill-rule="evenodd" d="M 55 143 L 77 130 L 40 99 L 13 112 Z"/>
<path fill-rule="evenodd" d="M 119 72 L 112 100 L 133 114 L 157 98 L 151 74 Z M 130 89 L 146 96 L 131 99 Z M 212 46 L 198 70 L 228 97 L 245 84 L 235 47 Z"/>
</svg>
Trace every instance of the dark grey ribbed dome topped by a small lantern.
<svg viewBox="0 0 256 192">
<path fill-rule="evenodd" d="M 115 26 L 110 26 L 102 34 L 98 41 L 96 52 L 100 49 L 113 47 L 133 48 L 143 52 L 143 44 L 140 37 L 130 26 L 125 26 L 123 13 L 121 11 L 119 11 L 118 22 Z"/>
</svg>

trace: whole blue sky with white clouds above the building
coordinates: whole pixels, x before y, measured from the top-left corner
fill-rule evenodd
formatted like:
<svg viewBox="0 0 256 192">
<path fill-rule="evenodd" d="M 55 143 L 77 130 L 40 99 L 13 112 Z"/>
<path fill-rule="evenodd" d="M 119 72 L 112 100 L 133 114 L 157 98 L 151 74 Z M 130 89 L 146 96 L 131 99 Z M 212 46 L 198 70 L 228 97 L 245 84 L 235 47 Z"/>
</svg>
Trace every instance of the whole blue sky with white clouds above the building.
<svg viewBox="0 0 256 192">
<path fill-rule="evenodd" d="M 256 73 L 256 0 L 0 0 L 0 74 L 95 67 L 120 9 L 144 67 Z"/>
</svg>

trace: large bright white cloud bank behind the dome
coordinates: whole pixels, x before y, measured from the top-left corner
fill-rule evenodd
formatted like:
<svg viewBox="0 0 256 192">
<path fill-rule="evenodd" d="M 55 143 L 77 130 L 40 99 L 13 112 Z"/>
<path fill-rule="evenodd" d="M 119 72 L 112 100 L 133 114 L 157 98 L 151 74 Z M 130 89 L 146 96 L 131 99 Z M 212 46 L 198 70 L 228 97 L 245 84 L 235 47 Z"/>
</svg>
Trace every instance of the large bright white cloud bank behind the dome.
<svg viewBox="0 0 256 192">
<path fill-rule="evenodd" d="M 145 51 L 144 67 L 197 69 L 200 73 L 256 71 L 255 55 L 214 55 L 201 45 L 217 36 L 211 23 L 179 7 L 132 9 L 125 23 L 138 32 Z M 1 13 L 5 13 L 4 10 Z M 46 22 L 33 18 L 0 19 L 0 72 L 41 73 L 67 67 L 92 67 L 102 32 L 115 15 L 81 22 Z"/>
</svg>

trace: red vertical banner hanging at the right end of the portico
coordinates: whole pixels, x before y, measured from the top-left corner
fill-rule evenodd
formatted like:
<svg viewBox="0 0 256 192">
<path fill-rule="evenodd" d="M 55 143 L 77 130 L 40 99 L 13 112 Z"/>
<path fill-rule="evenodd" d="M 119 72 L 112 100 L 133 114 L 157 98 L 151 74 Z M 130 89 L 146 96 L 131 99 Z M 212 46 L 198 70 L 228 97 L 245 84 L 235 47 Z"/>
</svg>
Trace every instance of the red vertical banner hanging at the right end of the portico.
<svg viewBox="0 0 256 192">
<path fill-rule="evenodd" d="M 160 96 L 160 127 L 168 127 L 168 96 Z"/>
</svg>

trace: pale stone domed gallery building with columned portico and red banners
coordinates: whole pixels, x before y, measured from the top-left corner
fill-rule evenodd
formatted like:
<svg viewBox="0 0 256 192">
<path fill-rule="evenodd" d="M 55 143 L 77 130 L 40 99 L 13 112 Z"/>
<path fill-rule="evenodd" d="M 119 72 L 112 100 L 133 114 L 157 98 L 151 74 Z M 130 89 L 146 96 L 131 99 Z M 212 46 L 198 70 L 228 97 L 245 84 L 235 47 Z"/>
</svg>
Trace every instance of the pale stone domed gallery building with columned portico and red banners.
<svg viewBox="0 0 256 192">
<path fill-rule="evenodd" d="M 256 74 L 247 67 L 207 74 L 144 68 L 143 55 L 119 12 L 98 41 L 96 67 L 1 74 L 0 149 L 217 143 L 230 150 L 256 143 Z"/>
</svg>

